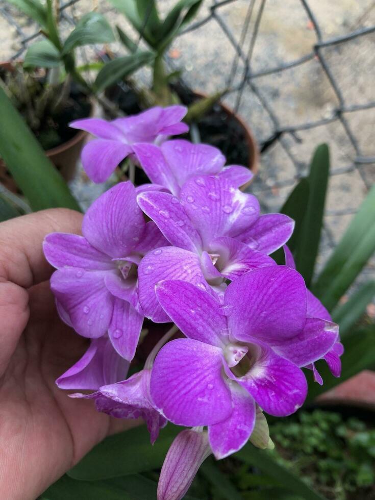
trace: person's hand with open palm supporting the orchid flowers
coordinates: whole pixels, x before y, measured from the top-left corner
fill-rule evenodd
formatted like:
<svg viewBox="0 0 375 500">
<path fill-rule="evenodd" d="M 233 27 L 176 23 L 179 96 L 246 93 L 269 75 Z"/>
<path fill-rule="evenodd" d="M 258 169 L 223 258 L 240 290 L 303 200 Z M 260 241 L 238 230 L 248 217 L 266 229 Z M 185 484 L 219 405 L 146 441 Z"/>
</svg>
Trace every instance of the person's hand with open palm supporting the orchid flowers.
<svg viewBox="0 0 375 500">
<path fill-rule="evenodd" d="M 56 313 L 41 244 L 53 231 L 80 233 L 81 221 L 53 209 L 0 224 L 0 498 L 35 499 L 97 442 L 134 424 L 55 385 L 88 340 Z"/>
</svg>

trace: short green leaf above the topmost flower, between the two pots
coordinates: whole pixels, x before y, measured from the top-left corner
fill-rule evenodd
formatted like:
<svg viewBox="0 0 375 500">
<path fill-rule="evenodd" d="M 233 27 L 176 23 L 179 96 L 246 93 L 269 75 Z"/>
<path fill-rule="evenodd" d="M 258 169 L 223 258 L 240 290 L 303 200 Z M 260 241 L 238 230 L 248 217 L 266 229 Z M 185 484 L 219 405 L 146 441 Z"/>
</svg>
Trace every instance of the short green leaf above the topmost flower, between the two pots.
<svg viewBox="0 0 375 500">
<path fill-rule="evenodd" d="M 97 74 L 95 87 L 97 90 L 104 90 L 110 85 L 114 85 L 128 77 L 134 71 L 153 61 L 153 52 L 136 52 L 130 56 L 117 57 L 109 61 Z"/>
</svg>

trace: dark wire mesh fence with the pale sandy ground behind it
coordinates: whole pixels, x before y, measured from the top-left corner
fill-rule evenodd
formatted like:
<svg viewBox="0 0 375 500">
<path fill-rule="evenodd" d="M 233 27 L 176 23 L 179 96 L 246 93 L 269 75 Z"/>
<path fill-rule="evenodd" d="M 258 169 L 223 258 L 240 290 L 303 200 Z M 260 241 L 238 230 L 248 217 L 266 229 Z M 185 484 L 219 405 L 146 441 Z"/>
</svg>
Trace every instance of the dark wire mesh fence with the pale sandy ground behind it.
<svg viewBox="0 0 375 500">
<path fill-rule="evenodd" d="M 173 4 L 159 2 L 162 11 Z M 167 58 L 170 66 L 185 69 L 186 85 L 206 91 L 226 88 L 225 101 L 253 129 L 261 168 L 252 191 L 265 211 L 280 208 L 306 174 L 314 147 L 330 144 L 321 263 L 375 180 L 375 2 L 333 3 L 344 4 L 346 14 L 322 4 L 206 0 Z M 70 0 L 60 3 L 61 22 L 68 30 L 77 12 L 93 9 L 106 12 L 110 21 L 115 15 L 105 2 Z M 9 38 L 11 31 L 13 40 L 2 59 L 21 58 L 40 33 L 4 0 L 0 15 L 3 37 Z M 336 23 L 327 26 L 332 18 Z M 117 15 L 114 21 L 118 23 Z M 81 57 L 87 58 L 85 51 Z M 373 261 L 362 278 L 369 275 L 375 277 Z"/>
</svg>

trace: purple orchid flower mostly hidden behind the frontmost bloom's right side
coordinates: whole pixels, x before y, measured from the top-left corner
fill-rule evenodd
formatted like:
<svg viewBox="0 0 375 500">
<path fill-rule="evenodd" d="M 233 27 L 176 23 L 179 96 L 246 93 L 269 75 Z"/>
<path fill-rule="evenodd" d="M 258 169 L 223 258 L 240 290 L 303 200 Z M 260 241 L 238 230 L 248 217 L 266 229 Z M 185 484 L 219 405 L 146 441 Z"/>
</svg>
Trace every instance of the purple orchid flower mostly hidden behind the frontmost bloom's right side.
<svg viewBox="0 0 375 500">
<path fill-rule="evenodd" d="M 284 245 L 284 255 L 285 265 L 287 265 L 291 269 L 295 269 L 293 255 L 287 245 Z M 319 299 L 310 292 L 310 290 L 307 290 L 307 315 L 315 318 L 326 319 L 327 321 L 332 321 L 330 313 L 319 301 Z M 323 359 L 327 362 L 328 367 L 334 377 L 340 377 L 341 375 L 340 356 L 342 356 L 343 352 L 344 346 L 340 342 L 340 336 L 338 336 L 337 341 L 332 346 L 332 349 L 330 349 L 330 351 L 325 356 L 323 356 Z M 313 370 L 315 382 L 317 382 L 319 385 L 322 385 L 323 379 L 316 369 L 315 364 L 311 363 L 311 365 L 307 366 L 307 368 Z"/>
</svg>

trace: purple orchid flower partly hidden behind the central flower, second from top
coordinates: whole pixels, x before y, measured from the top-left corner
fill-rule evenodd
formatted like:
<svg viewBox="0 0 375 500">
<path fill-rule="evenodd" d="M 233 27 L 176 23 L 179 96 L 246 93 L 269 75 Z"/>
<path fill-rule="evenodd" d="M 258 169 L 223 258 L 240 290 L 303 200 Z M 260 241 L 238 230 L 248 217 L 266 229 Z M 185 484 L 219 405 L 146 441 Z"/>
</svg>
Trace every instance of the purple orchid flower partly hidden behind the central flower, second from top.
<svg viewBox="0 0 375 500">
<path fill-rule="evenodd" d="M 147 176 L 160 188 L 179 196 L 181 187 L 192 177 L 215 175 L 231 181 L 233 186 L 247 184 L 252 172 L 239 165 L 224 166 L 226 158 L 219 149 L 208 144 L 192 144 L 175 139 L 155 144 L 139 143 L 133 146 L 134 153 Z"/>
</svg>

